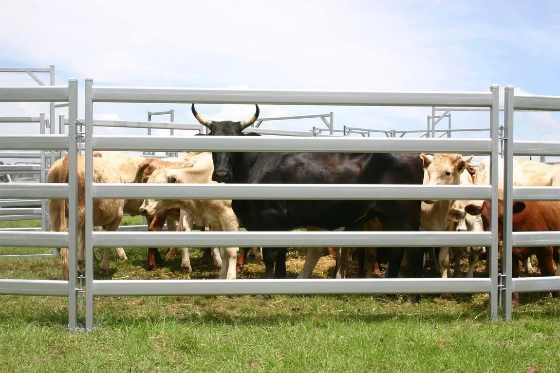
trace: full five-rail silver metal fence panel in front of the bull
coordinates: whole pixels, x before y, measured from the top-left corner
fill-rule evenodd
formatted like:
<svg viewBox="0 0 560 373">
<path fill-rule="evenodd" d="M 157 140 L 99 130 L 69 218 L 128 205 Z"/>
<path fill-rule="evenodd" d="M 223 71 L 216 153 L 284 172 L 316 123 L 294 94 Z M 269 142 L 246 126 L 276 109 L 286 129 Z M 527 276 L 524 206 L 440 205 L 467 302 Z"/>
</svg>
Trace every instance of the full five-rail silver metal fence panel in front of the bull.
<svg viewBox="0 0 560 373">
<path fill-rule="evenodd" d="M 85 84 L 86 170 L 93 150 L 249 152 L 436 152 L 491 154 L 491 186 L 416 185 L 124 185 L 92 183 L 86 172 L 86 328 L 94 327 L 94 298 L 116 295 L 251 295 L 441 293 L 490 294 L 489 317 L 498 318 L 497 185 L 498 87 L 475 93 L 290 92 L 219 89 L 97 87 Z M 264 138 L 222 136 L 93 135 L 94 102 L 259 103 L 274 105 L 467 106 L 491 108 L 491 139 Z M 251 129 L 253 130 L 253 129 Z M 94 247 L 155 247 L 185 244 L 180 232 L 93 232 L 94 198 L 156 199 L 472 199 L 491 200 L 492 232 L 191 232 L 190 247 L 491 247 L 488 278 L 409 278 L 343 280 L 94 280 Z M 351 286 L 349 286 L 351 284 Z M 351 289 L 351 290 L 349 290 Z"/>
</svg>

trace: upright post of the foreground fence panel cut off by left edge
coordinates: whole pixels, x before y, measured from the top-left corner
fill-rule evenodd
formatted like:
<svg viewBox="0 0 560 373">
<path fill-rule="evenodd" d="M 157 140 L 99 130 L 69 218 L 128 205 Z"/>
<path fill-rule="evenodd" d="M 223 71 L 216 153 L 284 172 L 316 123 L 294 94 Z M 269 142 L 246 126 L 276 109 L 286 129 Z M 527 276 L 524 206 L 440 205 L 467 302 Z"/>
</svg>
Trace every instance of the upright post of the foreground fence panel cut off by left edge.
<svg viewBox="0 0 560 373">
<path fill-rule="evenodd" d="M 63 120 L 64 117 L 62 117 Z M 78 325 L 77 290 L 78 276 L 76 253 L 78 250 L 78 180 L 77 154 L 78 138 L 76 138 L 76 120 L 78 118 L 78 81 L 68 81 L 68 327 L 76 329 Z M 64 122 L 62 128 L 64 128 Z M 62 158 L 63 155 L 60 154 Z"/>
</svg>

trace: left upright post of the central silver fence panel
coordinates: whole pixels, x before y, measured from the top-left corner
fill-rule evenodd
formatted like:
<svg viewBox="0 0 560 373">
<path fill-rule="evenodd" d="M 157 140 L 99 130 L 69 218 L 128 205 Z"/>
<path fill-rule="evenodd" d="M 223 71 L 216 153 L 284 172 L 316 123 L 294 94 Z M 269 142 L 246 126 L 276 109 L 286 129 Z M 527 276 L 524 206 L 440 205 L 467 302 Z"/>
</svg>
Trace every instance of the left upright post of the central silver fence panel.
<svg viewBox="0 0 560 373">
<path fill-rule="evenodd" d="M 93 183 L 93 132 L 94 132 L 94 104 L 93 104 L 93 80 L 91 78 L 86 78 L 85 81 L 85 119 L 84 119 L 84 130 L 85 130 L 85 235 L 84 235 L 84 245 L 85 245 L 85 261 L 86 261 L 86 329 L 91 330 L 94 328 L 94 295 L 93 295 L 93 280 L 94 280 L 94 248 L 92 246 L 92 233 L 94 230 L 94 206 L 92 199 L 92 183 Z"/>
</svg>

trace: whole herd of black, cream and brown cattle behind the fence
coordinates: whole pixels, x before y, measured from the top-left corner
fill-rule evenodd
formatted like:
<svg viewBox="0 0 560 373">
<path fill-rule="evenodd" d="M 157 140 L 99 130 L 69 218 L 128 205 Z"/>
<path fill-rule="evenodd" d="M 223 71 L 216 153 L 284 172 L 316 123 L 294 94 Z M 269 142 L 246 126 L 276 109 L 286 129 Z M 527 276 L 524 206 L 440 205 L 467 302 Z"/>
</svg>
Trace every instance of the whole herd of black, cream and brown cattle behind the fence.
<svg viewBox="0 0 560 373">
<path fill-rule="evenodd" d="M 256 106 L 256 105 L 255 105 Z M 209 129 L 209 136 L 258 136 L 244 133 L 257 119 L 255 114 L 242 122 L 211 121 L 192 106 L 193 115 Z M 314 184 L 425 184 L 484 185 L 489 184 L 489 158 L 478 167 L 470 157 L 460 154 L 391 154 L 391 153 L 256 153 L 256 152 L 190 152 L 179 158 L 144 158 L 119 152 L 94 152 L 96 183 L 314 183 Z M 85 234 L 85 160 L 78 156 L 78 268 L 83 270 Z M 499 193 L 503 193 L 503 163 L 500 164 Z M 68 156 L 50 168 L 47 182 L 68 182 Z M 529 159 L 514 161 L 514 185 L 560 186 L 560 164 L 549 165 Z M 307 230 L 385 230 L 385 231 L 483 231 L 489 230 L 488 201 L 363 201 L 363 200 L 94 200 L 95 229 L 115 231 L 123 213 L 144 215 L 149 230 L 189 231 L 194 226 L 209 230 L 234 232 L 242 226 L 249 231 Z M 499 201 L 499 235 L 502 237 L 503 204 Z M 560 201 L 514 202 L 514 232 L 560 230 Z M 50 200 L 51 230 L 67 229 L 66 200 Z M 176 221 L 179 226 L 176 227 Z M 188 244 L 188 239 L 185 239 Z M 372 243 L 374 245 L 375 243 Z M 212 249 L 214 264 L 221 267 L 219 278 L 233 279 L 242 268 L 246 249 L 237 258 L 238 249 Z M 126 258 L 122 248 L 119 256 Z M 286 278 L 286 248 L 264 248 L 265 278 Z M 326 250 L 326 248 L 325 248 Z M 348 248 L 335 248 L 337 278 L 346 277 Z M 59 249 L 62 266 L 60 280 L 68 278 L 68 251 Z M 386 277 L 398 277 L 402 266 L 408 266 L 413 277 L 422 277 L 422 248 L 372 247 L 360 250 L 360 271 L 372 277 L 377 263 L 387 263 Z M 460 276 L 463 248 L 439 248 L 436 268 L 447 277 L 455 257 L 454 276 Z M 469 256 L 467 277 L 484 247 L 466 248 Z M 304 267 L 298 278 L 310 275 L 324 251 L 307 251 Z M 516 247 L 513 252 L 514 273 L 519 276 L 519 262 L 536 255 L 542 276 L 560 275 L 558 247 Z M 157 248 L 148 249 L 148 266 L 156 268 L 162 258 Z M 556 272 L 553 261 L 556 262 Z M 188 248 L 183 249 L 181 266 L 192 270 Z M 100 265 L 102 274 L 109 270 L 109 249 L 104 250 Z M 527 268 L 531 271 L 531 268 Z M 553 294 L 558 296 L 558 294 Z M 515 303 L 517 295 L 512 301 Z"/>
</svg>

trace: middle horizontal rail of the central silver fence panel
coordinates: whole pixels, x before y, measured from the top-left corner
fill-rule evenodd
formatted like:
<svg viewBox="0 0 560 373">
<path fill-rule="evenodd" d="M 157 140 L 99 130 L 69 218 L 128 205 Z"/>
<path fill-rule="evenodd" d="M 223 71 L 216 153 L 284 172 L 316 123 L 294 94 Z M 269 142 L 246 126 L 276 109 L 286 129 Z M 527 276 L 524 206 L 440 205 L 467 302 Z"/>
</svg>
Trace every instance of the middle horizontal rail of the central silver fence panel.
<svg viewBox="0 0 560 373">
<path fill-rule="evenodd" d="M 234 200 L 487 200 L 488 185 L 345 185 L 345 184 L 111 184 L 92 186 L 101 199 Z"/>
</svg>

